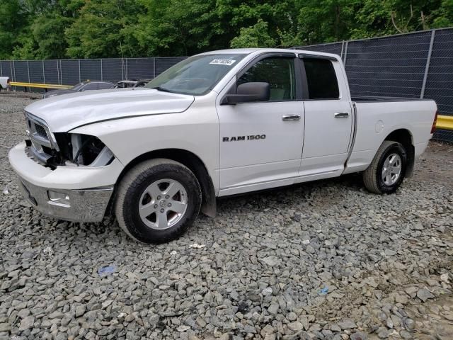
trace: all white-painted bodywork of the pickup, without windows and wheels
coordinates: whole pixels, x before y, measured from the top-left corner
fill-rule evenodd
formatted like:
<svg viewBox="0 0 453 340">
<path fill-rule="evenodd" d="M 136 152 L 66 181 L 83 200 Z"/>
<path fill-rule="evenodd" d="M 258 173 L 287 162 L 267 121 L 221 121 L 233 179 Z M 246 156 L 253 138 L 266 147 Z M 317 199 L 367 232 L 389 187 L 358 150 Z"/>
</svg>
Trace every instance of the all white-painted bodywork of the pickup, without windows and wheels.
<svg viewBox="0 0 453 340">
<path fill-rule="evenodd" d="M 36 186 L 94 188 L 117 183 L 122 169 L 137 157 L 155 150 L 183 149 L 202 161 L 215 195 L 224 196 L 362 171 L 394 130 L 411 133 L 416 156 L 430 140 L 436 111 L 433 101 L 359 102 L 355 121 L 345 71 L 336 55 L 275 49 L 235 52 L 248 55 L 204 96 L 113 89 L 31 104 L 25 110 L 45 120 L 51 132 L 96 136 L 113 152 L 115 161 L 91 169 L 57 166 L 51 171 L 28 159 L 25 146 L 18 145 L 9 155 L 13 169 Z M 236 73 L 263 52 L 335 58 L 340 99 L 220 106 Z M 349 115 L 335 118 L 335 113 Z M 295 114 L 301 119 L 282 121 L 282 115 Z M 222 141 L 224 137 L 248 135 L 265 138 Z"/>
</svg>

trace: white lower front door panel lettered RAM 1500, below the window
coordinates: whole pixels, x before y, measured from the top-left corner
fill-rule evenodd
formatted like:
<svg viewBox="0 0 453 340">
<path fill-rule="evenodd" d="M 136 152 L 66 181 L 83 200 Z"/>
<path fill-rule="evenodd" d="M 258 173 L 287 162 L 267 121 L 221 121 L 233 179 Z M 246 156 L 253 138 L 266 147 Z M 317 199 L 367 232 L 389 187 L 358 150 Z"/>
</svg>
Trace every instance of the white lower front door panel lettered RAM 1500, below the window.
<svg viewBox="0 0 453 340">
<path fill-rule="evenodd" d="M 229 139 L 220 142 L 221 195 L 298 176 L 304 120 L 283 121 L 282 116 L 303 118 L 302 101 L 217 105 L 217 113 L 220 136 Z"/>
</svg>

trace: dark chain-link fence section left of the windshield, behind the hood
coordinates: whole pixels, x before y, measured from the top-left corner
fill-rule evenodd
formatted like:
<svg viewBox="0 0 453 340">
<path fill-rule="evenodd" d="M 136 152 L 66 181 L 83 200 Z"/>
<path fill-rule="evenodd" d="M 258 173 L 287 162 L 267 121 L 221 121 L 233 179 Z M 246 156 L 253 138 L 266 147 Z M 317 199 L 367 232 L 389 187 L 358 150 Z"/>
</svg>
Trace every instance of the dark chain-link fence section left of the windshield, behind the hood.
<svg viewBox="0 0 453 340">
<path fill-rule="evenodd" d="M 85 80 L 154 79 L 185 57 L 81 60 L 2 60 L 0 77 L 39 84 L 75 85 Z"/>
</svg>

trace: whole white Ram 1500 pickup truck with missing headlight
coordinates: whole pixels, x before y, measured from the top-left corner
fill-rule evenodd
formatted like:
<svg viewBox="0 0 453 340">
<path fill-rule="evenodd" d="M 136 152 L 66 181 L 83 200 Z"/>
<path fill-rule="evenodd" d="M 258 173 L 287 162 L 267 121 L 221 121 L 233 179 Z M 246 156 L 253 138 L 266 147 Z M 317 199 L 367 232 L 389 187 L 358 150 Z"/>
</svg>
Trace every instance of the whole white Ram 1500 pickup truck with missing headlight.
<svg viewBox="0 0 453 340">
<path fill-rule="evenodd" d="M 370 76 L 372 77 L 372 75 Z M 435 127 L 434 101 L 351 98 L 338 55 L 207 52 L 142 88 L 47 98 L 25 108 L 11 152 L 23 194 L 46 215 L 114 213 L 146 243 L 185 232 L 216 198 L 362 172 L 393 193 Z"/>
</svg>

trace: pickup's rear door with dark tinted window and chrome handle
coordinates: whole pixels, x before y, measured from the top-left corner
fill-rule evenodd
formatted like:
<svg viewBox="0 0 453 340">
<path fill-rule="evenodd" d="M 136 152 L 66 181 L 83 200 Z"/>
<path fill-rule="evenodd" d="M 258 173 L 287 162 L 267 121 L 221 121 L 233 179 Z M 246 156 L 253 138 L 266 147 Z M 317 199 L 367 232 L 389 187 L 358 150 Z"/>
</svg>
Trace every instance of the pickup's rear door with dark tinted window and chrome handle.
<svg viewBox="0 0 453 340">
<path fill-rule="evenodd" d="M 348 158 L 352 106 L 343 68 L 333 58 L 302 57 L 306 79 L 305 136 L 300 176 L 339 176 Z M 308 93 L 307 93 L 308 92 Z"/>
</svg>

